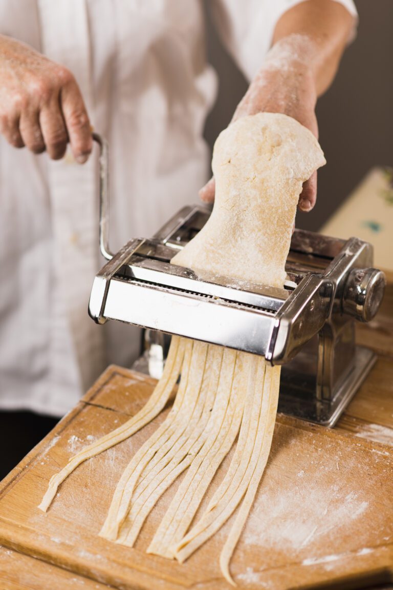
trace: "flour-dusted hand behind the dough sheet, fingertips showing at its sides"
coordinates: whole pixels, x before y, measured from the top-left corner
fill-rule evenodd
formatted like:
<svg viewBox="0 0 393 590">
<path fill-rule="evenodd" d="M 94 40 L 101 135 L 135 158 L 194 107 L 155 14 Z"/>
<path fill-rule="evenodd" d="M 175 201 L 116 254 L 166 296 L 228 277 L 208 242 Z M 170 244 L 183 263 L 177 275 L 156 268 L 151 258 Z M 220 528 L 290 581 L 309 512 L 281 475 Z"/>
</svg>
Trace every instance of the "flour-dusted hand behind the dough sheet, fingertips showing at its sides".
<svg viewBox="0 0 393 590">
<path fill-rule="evenodd" d="M 316 89 L 308 65 L 309 41 L 292 35 L 269 51 L 265 63 L 240 101 L 232 122 L 260 112 L 284 113 L 298 120 L 318 137 L 315 116 Z M 231 122 L 231 123 L 232 123 Z M 214 201 L 214 178 L 201 189 L 202 201 Z M 316 201 L 316 172 L 303 184 L 299 209 L 311 211 Z"/>
</svg>

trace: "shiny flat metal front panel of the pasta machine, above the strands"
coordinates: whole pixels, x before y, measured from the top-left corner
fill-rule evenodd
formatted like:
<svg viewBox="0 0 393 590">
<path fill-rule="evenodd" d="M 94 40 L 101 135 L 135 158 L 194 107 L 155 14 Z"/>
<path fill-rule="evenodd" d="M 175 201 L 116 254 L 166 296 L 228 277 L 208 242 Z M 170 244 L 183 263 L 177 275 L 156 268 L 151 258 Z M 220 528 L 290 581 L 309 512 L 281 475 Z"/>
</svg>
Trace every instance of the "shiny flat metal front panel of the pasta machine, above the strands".
<svg viewBox="0 0 393 590">
<path fill-rule="evenodd" d="M 113 278 L 104 317 L 265 356 L 274 314 Z"/>
</svg>

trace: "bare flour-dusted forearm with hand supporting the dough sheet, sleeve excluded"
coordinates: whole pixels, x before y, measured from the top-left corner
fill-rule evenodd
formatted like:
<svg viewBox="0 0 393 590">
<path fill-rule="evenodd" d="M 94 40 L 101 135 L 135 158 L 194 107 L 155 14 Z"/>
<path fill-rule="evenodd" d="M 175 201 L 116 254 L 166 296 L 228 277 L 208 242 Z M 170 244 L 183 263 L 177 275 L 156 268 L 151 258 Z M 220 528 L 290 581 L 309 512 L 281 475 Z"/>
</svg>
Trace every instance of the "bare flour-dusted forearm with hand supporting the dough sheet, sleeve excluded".
<svg viewBox="0 0 393 590">
<path fill-rule="evenodd" d="M 354 17 L 334 0 L 305 0 L 286 11 L 232 120 L 261 112 L 283 113 L 318 137 L 316 100 L 332 83 L 353 26 Z M 213 200 L 213 181 L 200 196 Z M 310 211 L 315 199 L 316 174 L 303 185 L 299 208 Z"/>
</svg>

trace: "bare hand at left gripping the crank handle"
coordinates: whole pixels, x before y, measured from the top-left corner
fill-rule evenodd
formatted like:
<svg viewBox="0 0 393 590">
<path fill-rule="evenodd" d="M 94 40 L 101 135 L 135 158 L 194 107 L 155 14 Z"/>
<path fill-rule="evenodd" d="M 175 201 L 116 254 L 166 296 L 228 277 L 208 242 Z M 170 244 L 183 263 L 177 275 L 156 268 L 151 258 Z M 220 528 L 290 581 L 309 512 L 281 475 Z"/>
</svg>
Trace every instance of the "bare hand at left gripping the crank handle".
<svg viewBox="0 0 393 590">
<path fill-rule="evenodd" d="M 0 132 L 15 148 L 50 158 L 67 143 L 78 163 L 92 149 L 88 114 L 74 76 L 28 45 L 0 35 Z"/>
</svg>

